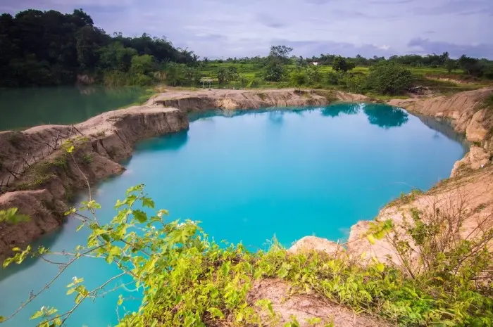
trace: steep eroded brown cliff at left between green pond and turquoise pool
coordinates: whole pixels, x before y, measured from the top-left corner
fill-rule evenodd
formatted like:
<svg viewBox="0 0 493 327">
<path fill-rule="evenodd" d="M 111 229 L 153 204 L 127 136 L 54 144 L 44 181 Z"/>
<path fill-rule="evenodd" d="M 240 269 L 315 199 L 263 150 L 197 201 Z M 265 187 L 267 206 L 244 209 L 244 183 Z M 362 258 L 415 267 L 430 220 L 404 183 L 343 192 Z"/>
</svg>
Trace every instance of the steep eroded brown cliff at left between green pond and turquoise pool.
<svg viewBox="0 0 493 327">
<path fill-rule="evenodd" d="M 73 194 L 89 184 L 124 168 L 119 161 L 132 155 L 135 142 L 151 136 L 177 132 L 188 128 L 187 116 L 175 108 L 137 106 L 116 110 L 70 126 L 45 125 L 23 132 L 0 132 L 0 176 L 6 180 L 7 167 L 22 162 L 26 153 L 30 160 L 18 179 L 0 195 L 0 210 L 18 207 L 31 217 L 21 224 L 0 223 L 0 258 L 14 246 L 25 245 L 57 229 L 63 223 L 63 212 Z M 50 155 L 47 143 L 61 134 L 75 142 L 73 157 L 58 146 Z M 42 154 L 43 152 L 43 154 Z M 45 156 L 42 159 L 42 156 Z M 87 181 L 86 181 L 87 177 Z"/>
</svg>

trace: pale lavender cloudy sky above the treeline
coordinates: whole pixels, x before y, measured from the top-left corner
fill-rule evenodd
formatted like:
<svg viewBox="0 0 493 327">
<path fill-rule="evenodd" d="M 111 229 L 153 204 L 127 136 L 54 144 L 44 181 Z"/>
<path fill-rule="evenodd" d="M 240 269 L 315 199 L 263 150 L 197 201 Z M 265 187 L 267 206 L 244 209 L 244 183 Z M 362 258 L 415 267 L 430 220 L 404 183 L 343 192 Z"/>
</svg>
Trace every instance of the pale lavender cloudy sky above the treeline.
<svg viewBox="0 0 493 327">
<path fill-rule="evenodd" d="M 82 8 L 108 34 L 165 36 L 199 56 L 365 57 L 449 51 L 493 59 L 493 0 L 1 0 L 0 12 Z"/>
</svg>

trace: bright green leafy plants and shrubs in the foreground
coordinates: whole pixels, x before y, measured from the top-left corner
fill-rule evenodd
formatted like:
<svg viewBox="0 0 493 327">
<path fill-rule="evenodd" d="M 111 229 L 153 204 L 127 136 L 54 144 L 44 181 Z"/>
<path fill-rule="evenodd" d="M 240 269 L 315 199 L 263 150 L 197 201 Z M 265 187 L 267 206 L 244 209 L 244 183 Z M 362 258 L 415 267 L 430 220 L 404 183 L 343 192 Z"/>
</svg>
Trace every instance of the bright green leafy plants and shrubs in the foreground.
<svg viewBox="0 0 493 327">
<path fill-rule="evenodd" d="M 113 285 L 125 275 L 133 278 L 132 284 L 144 297 L 138 312 L 124 312 L 120 296 L 116 305 L 123 318 L 118 326 L 275 323 L 278 314 L 269 300 L 247 301 L 247 293 L 260 278 L 280 278 L 296 293 L 319 297 L 400 326 L 493 323 L 493 267 L 485 247 L 493 239 L 493 230 L 474 240 L 460 240 L 455 237 L 458 229 L 454 233 L 463 222 L 460 217 L 438 211 L 427 217 L 411 210 L 411 220 L 404 221 L 403 238 L 394 234 L 397 229 L 391 221 L 373 223 L 368 241 L 375 243 L 376 239 L 387 237 L 403 262 L 403 267 L 397 269 L 375 258 L 369 264 L 361 264 L 361 259 L 351 259 L 344 253 L 291 255 L 275 241 L 267 252 L 249 252 L 242 245 L 220 247 L 208 240 L 198 222 L 168 222 L 166 210 L 148 215 L 137 207 L 154 209 L 154 201 L 144 193 L 143 185 L 129 188 L 126 198 L 117 201 L 116 216 L 109 224 L 101 225 L 96 220 L 100 206 L 94 200 L 80 208 L 87 210 L 88 216 L 75 208 L 68 212 L 81 219 L 79 229 L 88 228 L 92 234 L 87 245 L 79 245 L 70 253 L 58 253 L 68 260 L 61 264 L 61 274 L 81 257 L 104 258 L 108 264 L 116 265 L 120 274 L 92 289 L 86 288 L 84 278 L 74 277 L 67 286 L 67 295 L 75 297 L 73 309 L 61 313 L 53 307 L 42 307 L 31 318 L 38 326 L 63 325 L 80 302 L 95 300 L 108 290 L 108 283 Z M 0 221 L 23 219 L 15 209 L 0 212 Z M 15 256 L 6 259 L 4 267 L 20 264 L 28 256 L 56 254 L 44 247 L 13 250 Z M 418 266 L 414 267 L 411 260 L 416 256 Z M 265 314 L 263 321 L 260 312 Z M 293 319 L 285 326 L 299 323 L 304 321 Z"/>
</svg>

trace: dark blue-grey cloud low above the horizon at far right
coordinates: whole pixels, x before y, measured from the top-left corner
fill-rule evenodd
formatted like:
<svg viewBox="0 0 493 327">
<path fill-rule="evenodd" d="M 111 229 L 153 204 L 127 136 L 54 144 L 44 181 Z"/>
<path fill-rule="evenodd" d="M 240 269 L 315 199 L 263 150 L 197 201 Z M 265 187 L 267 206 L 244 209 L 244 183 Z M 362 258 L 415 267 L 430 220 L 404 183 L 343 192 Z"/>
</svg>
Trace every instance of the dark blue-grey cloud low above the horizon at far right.
<svg viewBox="0 0 493 327">
<path fill-rule="evenodd" d="M 493 44 L 453 44 L 416 38 L 409 41 L 408 46 L 420 48 L 423 53 L 443 53 L 448 51 L 450 56 L 455 58 L 463 54 L 476 58 L 493 58 Z"/>
</svg>

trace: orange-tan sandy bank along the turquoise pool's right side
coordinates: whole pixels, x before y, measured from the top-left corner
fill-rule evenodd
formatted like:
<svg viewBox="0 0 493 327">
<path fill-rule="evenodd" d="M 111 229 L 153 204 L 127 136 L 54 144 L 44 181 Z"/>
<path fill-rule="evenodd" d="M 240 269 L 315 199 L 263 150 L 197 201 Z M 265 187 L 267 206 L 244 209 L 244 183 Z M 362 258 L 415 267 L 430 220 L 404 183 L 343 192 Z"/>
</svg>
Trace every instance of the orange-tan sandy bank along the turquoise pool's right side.
<svg viewBox="0 0 493 327">
<path fill-rule="evenodd" d="M 463 133 L 466 139 L 482 146 L 471 146 L 463 159 L 458 160 L 451 172 L 451 178 L 439 182 L 430 191 L 415 195 L 407 203 L 397 201 L 380 211 L 376 220 L 392 219 L 396 224 L 409 217 L 410 208 L 421 212 L 432 210 L 457 210 L 465 217 L 462 235 L 467 236 L 478 222 L 493 215 L 493 165 L 491 131 L 493 115 L 487 108 L 482 108 L 482 101 L 493 93 L 493 89 L 467 91 L 454 96 L 437 96 L 434 98 L 394 99 L 390 105 L 406 108 L 420 116 L 426 124 L 435 120 L 445 120 L 456 132 Z M 458 214 L 455 212 L 454 214 Z M 493 221 L 490 225 L 493 225 Z M 397 255 L 387 240 L 376 241 L 371 245 L 366 239 L 369 221 L 358 222 L 351 227 L 348 252 L 354 256 L 366 255 L 377 257 L 382 261 L 389 258 L 394 264 L 400 264 Z"/>
</svg>

